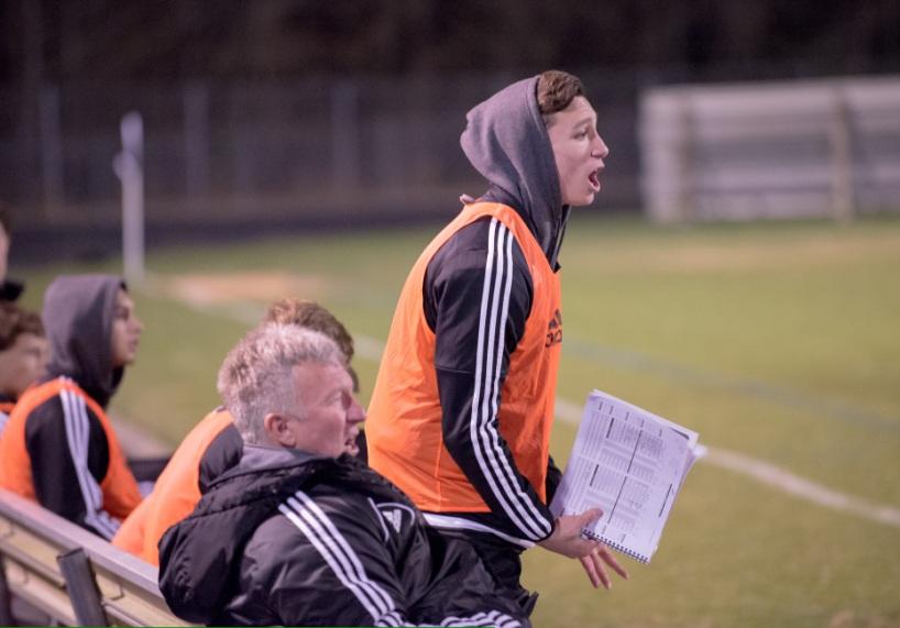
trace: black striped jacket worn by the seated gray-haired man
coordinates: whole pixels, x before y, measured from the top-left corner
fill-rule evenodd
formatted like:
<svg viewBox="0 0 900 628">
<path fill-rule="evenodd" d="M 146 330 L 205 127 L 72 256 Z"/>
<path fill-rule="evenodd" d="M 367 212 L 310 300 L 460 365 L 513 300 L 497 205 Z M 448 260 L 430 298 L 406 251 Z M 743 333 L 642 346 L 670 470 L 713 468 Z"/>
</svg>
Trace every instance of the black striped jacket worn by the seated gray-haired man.
<svg viewBox="0 0 900 628">
<path fill-rule="evenodd" d="M 163 537 L 160 588 L 215 625 L 530 625 L 468 544 L 360 461 L 254 445 Z"/>
</svg>

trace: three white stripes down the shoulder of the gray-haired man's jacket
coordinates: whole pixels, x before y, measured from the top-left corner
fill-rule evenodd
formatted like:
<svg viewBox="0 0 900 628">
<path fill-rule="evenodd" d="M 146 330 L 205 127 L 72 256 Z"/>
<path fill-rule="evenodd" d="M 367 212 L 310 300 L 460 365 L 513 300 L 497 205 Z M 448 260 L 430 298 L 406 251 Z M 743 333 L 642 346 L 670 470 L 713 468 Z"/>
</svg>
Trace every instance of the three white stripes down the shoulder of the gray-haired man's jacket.
<svg viewBox="0 0 900 628">
<path fill-rule="evenodd" d="M 341 584 L 353 593 L 378 626 L 403 625 L 391 595 L 369 577 L 356 552 L 308 495 L 298 491 L 296 498 L 289 498 L 278 510 L 309 539 Z"/>
</svg>

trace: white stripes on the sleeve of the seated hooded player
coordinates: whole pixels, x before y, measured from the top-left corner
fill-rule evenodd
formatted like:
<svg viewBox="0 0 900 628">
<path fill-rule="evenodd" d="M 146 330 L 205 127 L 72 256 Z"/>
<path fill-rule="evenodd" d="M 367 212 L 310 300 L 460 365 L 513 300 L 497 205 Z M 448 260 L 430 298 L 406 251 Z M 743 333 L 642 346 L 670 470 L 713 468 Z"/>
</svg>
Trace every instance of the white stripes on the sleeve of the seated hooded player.
<svg viewBox="0 0 900 628">
<path fill-rule="evenodd" d="M 85 522 L 98 533 L 111 539 L 119 529 L 119 522 L 102 509 L 103 494 L 100 485 L 88 469 L 88 443 L 90 440 L 90 420 L 88 419 L 85 399 L 67 388 L 59 393 L 63 403 L 63 417 L 66 427 L 72 463 L 78 488 L 85 503 Z"/>
</svg>

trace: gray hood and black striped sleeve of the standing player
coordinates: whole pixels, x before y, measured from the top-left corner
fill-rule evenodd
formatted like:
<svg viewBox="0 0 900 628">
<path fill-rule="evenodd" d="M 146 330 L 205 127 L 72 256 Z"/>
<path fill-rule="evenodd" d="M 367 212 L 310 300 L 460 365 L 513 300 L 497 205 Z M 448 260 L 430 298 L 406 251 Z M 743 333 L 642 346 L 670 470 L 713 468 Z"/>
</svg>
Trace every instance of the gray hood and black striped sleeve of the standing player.
<svg viewBox="0 0 900 628">
<path fill-rule="evenodd" d="M 556 272 L 568 208 L 562 206 L 552 146 L 537 106 L 537 77 L 520 80 L 473 108 L 460 143 L 491 183 L 481 200 L 517 211 Z M 519 552 L 551 533 L 553 517 L 537 487 L 518 470 L 500 431 L 501 405 L 515 401 L 502 399 L 500 390 L 533 313 L 533 297 L 549 288 L 547 282 L 535 282 L 520 243 L 496 222 L 484 217 L 453 233 L 428 262 L 421 288 L 425 319 L 435 334 L 443 447 L 490 508 L 442 510 L 443 524 L 437 525 L 462 530 L 467 537 L 487 532 L 504 551 Z M 503 243 L 508 244 L 507 254 L 500 256 Z M 493 300 L 501 294 L 497 286 L 504 286 L 503 298 Z M 559 310 L 541 321 L 548 329 L 558 329 L 561 322 Z M 558 471 L 552 461 L 539 464 L 547 464 L 545 489 L 552 495 Z M 516 560 L 512 558 L 511 564 Z M 517 574 L 506 584 L 516 596 L 528 596 Z"/>
</svg>

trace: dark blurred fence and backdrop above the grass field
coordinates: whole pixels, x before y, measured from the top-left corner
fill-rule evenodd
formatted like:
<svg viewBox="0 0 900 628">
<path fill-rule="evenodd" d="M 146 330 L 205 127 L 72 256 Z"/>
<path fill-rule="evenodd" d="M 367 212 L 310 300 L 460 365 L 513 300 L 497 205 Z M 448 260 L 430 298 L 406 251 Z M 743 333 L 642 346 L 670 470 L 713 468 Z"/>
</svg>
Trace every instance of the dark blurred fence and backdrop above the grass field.
<svg viewBox="0 0 900 628">
<path fill-rule="evenodd" d="M 119 123 L 143 117 L 149 245 L 442 221 L 483 186 L 465 111 L 574 71 L 641 210 L 640 95 L 900 73 L 900 1 L 0 0 L 0 200 L 18 257 L 114 253 Z"/>
</svg>

